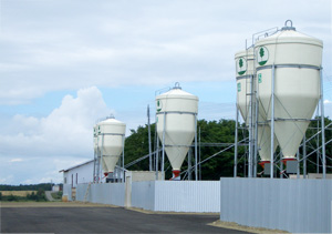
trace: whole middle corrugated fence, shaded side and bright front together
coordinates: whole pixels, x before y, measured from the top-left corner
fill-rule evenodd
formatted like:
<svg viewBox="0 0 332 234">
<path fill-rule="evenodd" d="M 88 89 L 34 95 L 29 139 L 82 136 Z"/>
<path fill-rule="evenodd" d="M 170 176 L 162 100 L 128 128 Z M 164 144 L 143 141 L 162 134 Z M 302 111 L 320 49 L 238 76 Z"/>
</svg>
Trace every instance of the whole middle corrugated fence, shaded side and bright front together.
<svg viewBox="0 0 332 234">
<path fill-rule="evenodd" d="M 220 182 L 133 182 L 132 206 L 163 212 L 220 212 Z"/>
</svg>

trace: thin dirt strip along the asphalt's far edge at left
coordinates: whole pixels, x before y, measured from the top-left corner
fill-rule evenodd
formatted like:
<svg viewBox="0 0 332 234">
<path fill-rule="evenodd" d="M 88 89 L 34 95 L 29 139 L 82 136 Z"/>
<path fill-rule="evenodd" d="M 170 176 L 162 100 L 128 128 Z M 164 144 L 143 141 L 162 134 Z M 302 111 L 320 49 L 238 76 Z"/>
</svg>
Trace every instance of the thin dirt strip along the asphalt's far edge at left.
<svg viewBox="0 0 332 234">
<path fill-rule="evenodd" d="M 118 207 L 83 202 L 0 202 L 0 207 Z"/>
</svg>

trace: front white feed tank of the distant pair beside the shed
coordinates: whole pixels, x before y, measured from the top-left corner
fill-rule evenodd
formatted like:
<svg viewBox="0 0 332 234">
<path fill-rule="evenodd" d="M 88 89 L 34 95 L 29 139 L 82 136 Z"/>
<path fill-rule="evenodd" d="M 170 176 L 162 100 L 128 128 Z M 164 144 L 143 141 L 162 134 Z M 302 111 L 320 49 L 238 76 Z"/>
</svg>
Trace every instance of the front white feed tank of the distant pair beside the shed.
<svg viewBox="0 0 332 234">
<path fill-rule="evenodd" d="M 126 124 L 113 116 L 98 124 L 98 147 L 105 176 L 114 172 L 114 167 L 123 153 Z"/>
</svg>

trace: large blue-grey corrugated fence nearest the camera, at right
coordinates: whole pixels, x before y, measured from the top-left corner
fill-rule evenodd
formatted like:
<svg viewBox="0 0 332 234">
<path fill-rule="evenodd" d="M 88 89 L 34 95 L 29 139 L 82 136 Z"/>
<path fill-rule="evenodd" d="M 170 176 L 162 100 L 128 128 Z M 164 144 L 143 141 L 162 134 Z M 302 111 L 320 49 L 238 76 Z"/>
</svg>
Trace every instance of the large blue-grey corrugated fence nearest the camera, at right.
<svg viewBox="0 0 332 234">
<path fill-rule="evenodd" d="M 331 180 L 221 179 L 220 220 L 291 233 L 330 233 Z"/>
</svg>

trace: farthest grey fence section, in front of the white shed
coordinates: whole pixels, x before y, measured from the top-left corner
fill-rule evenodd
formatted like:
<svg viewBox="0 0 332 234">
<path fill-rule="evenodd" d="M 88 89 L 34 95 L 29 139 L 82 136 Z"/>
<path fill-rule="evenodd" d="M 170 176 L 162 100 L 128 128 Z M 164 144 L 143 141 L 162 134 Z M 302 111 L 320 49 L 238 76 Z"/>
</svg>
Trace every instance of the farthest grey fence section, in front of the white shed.
<svg viewBox="0 0 332 234">
<path fill-rule="evenodd" d="M 76 201 L 124 206 L 124 183 L 91 184 L 91 187 L 89 190 L 87 187 L 89 184 L 77 184 Z"/>
</svg>

